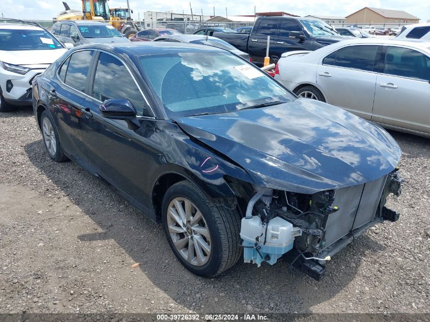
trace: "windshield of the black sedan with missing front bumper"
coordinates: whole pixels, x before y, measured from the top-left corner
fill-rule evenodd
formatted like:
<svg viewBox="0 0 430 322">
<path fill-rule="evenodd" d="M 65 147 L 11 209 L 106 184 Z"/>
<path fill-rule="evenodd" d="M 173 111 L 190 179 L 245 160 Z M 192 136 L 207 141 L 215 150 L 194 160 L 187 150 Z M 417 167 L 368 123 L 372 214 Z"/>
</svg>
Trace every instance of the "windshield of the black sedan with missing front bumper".
<svg viewBox="0 0 430 322">
<path fill-rule="evenodd" d="M 259 68 L 229 52 L 150 55 L 139 61 L 171 119 L 295 99 Z"/>
</svg>

